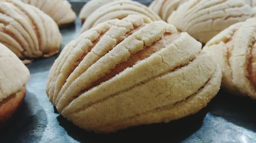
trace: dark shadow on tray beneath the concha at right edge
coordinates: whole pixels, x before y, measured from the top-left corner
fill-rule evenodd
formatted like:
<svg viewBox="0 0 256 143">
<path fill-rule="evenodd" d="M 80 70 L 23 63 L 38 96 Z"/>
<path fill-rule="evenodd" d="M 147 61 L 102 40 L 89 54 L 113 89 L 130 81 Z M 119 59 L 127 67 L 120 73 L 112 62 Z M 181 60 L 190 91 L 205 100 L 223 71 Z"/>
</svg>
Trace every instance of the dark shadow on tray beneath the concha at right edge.
<svg viewBox="0 0 256 143">
<path fill-rule="evenodd" d="M 221 90 L 210 103 L 211 115 L 221 117 L 237 126 L 256 131 L 256 101 L 249 97 L 234 96 Z"/>
</svg>

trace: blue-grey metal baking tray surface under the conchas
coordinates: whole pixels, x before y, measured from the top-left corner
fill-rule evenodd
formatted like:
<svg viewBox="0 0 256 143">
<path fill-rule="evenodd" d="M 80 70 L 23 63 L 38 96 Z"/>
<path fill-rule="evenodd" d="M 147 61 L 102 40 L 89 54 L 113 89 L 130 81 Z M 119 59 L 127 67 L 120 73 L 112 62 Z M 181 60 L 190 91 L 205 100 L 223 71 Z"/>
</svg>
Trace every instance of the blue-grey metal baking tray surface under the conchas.
<svg viewBox="0 0 256 143">
<path fill-rule="evenodd" d="M 83 3 L 73 3 L 76 12 Z M 61 29 L 63 48 L 81 27 Z M 49 70 L 57 58 L 37 59 L 22 107 L 0 132 L 0 142 L 256 142 L 256 101 L 221 91 L 196 115 L 170 123 L 132 127 L 112 134 L 84 131 L 63 118 L 45 93 Z"/>
</svg>

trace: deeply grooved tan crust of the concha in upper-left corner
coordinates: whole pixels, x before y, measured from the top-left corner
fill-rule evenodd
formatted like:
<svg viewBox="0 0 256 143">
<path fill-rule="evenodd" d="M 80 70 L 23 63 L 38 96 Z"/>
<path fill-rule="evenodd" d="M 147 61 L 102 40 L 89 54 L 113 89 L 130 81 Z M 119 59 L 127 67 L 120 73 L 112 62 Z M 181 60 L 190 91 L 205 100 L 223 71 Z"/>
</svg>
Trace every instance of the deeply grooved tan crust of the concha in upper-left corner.
<svg viewBox="0 0 256 143">
<path fill-rule="evenodd" d="M 20 59 L 58 52 L 61 34 L 54 20 L 34 6 L 0 1 L 0 42 Z"/>
</svg>

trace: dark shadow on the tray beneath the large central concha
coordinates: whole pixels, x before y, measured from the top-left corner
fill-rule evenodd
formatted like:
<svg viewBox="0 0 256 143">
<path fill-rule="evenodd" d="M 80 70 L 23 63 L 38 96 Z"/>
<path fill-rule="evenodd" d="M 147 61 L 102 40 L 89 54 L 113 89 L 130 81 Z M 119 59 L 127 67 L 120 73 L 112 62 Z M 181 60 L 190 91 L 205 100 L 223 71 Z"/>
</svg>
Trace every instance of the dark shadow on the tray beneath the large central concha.
<svg viewBox="0 0 256 143">
<path fill-rule="evenodd" d="M 111 134 L 88 132 L 75 126 L 61 115 L 57 117 L 57 120 L 59 125 L 79 142 L 180 142 L 200 129 L 208 110 L 209 106 L 206 106 L 195 115 L 169 123 L 141 125 Z M 55 107 L 54 112 L 58 112 Z"/>
</svg>

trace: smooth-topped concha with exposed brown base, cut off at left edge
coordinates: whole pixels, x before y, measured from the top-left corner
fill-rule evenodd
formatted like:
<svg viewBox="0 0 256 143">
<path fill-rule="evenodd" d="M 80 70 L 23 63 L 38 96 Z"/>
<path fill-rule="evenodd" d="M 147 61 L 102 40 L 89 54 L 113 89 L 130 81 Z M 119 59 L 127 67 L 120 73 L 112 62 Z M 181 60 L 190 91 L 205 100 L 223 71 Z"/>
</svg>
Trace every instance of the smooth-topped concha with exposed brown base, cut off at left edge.
<svg viewBox="0 0 256 143">
<path fill-rule="evenodd" d="M 27 67 L 0 43 L 0 128 L 7 124 L 22 104 L 28 79 Z"/>
</svg>

